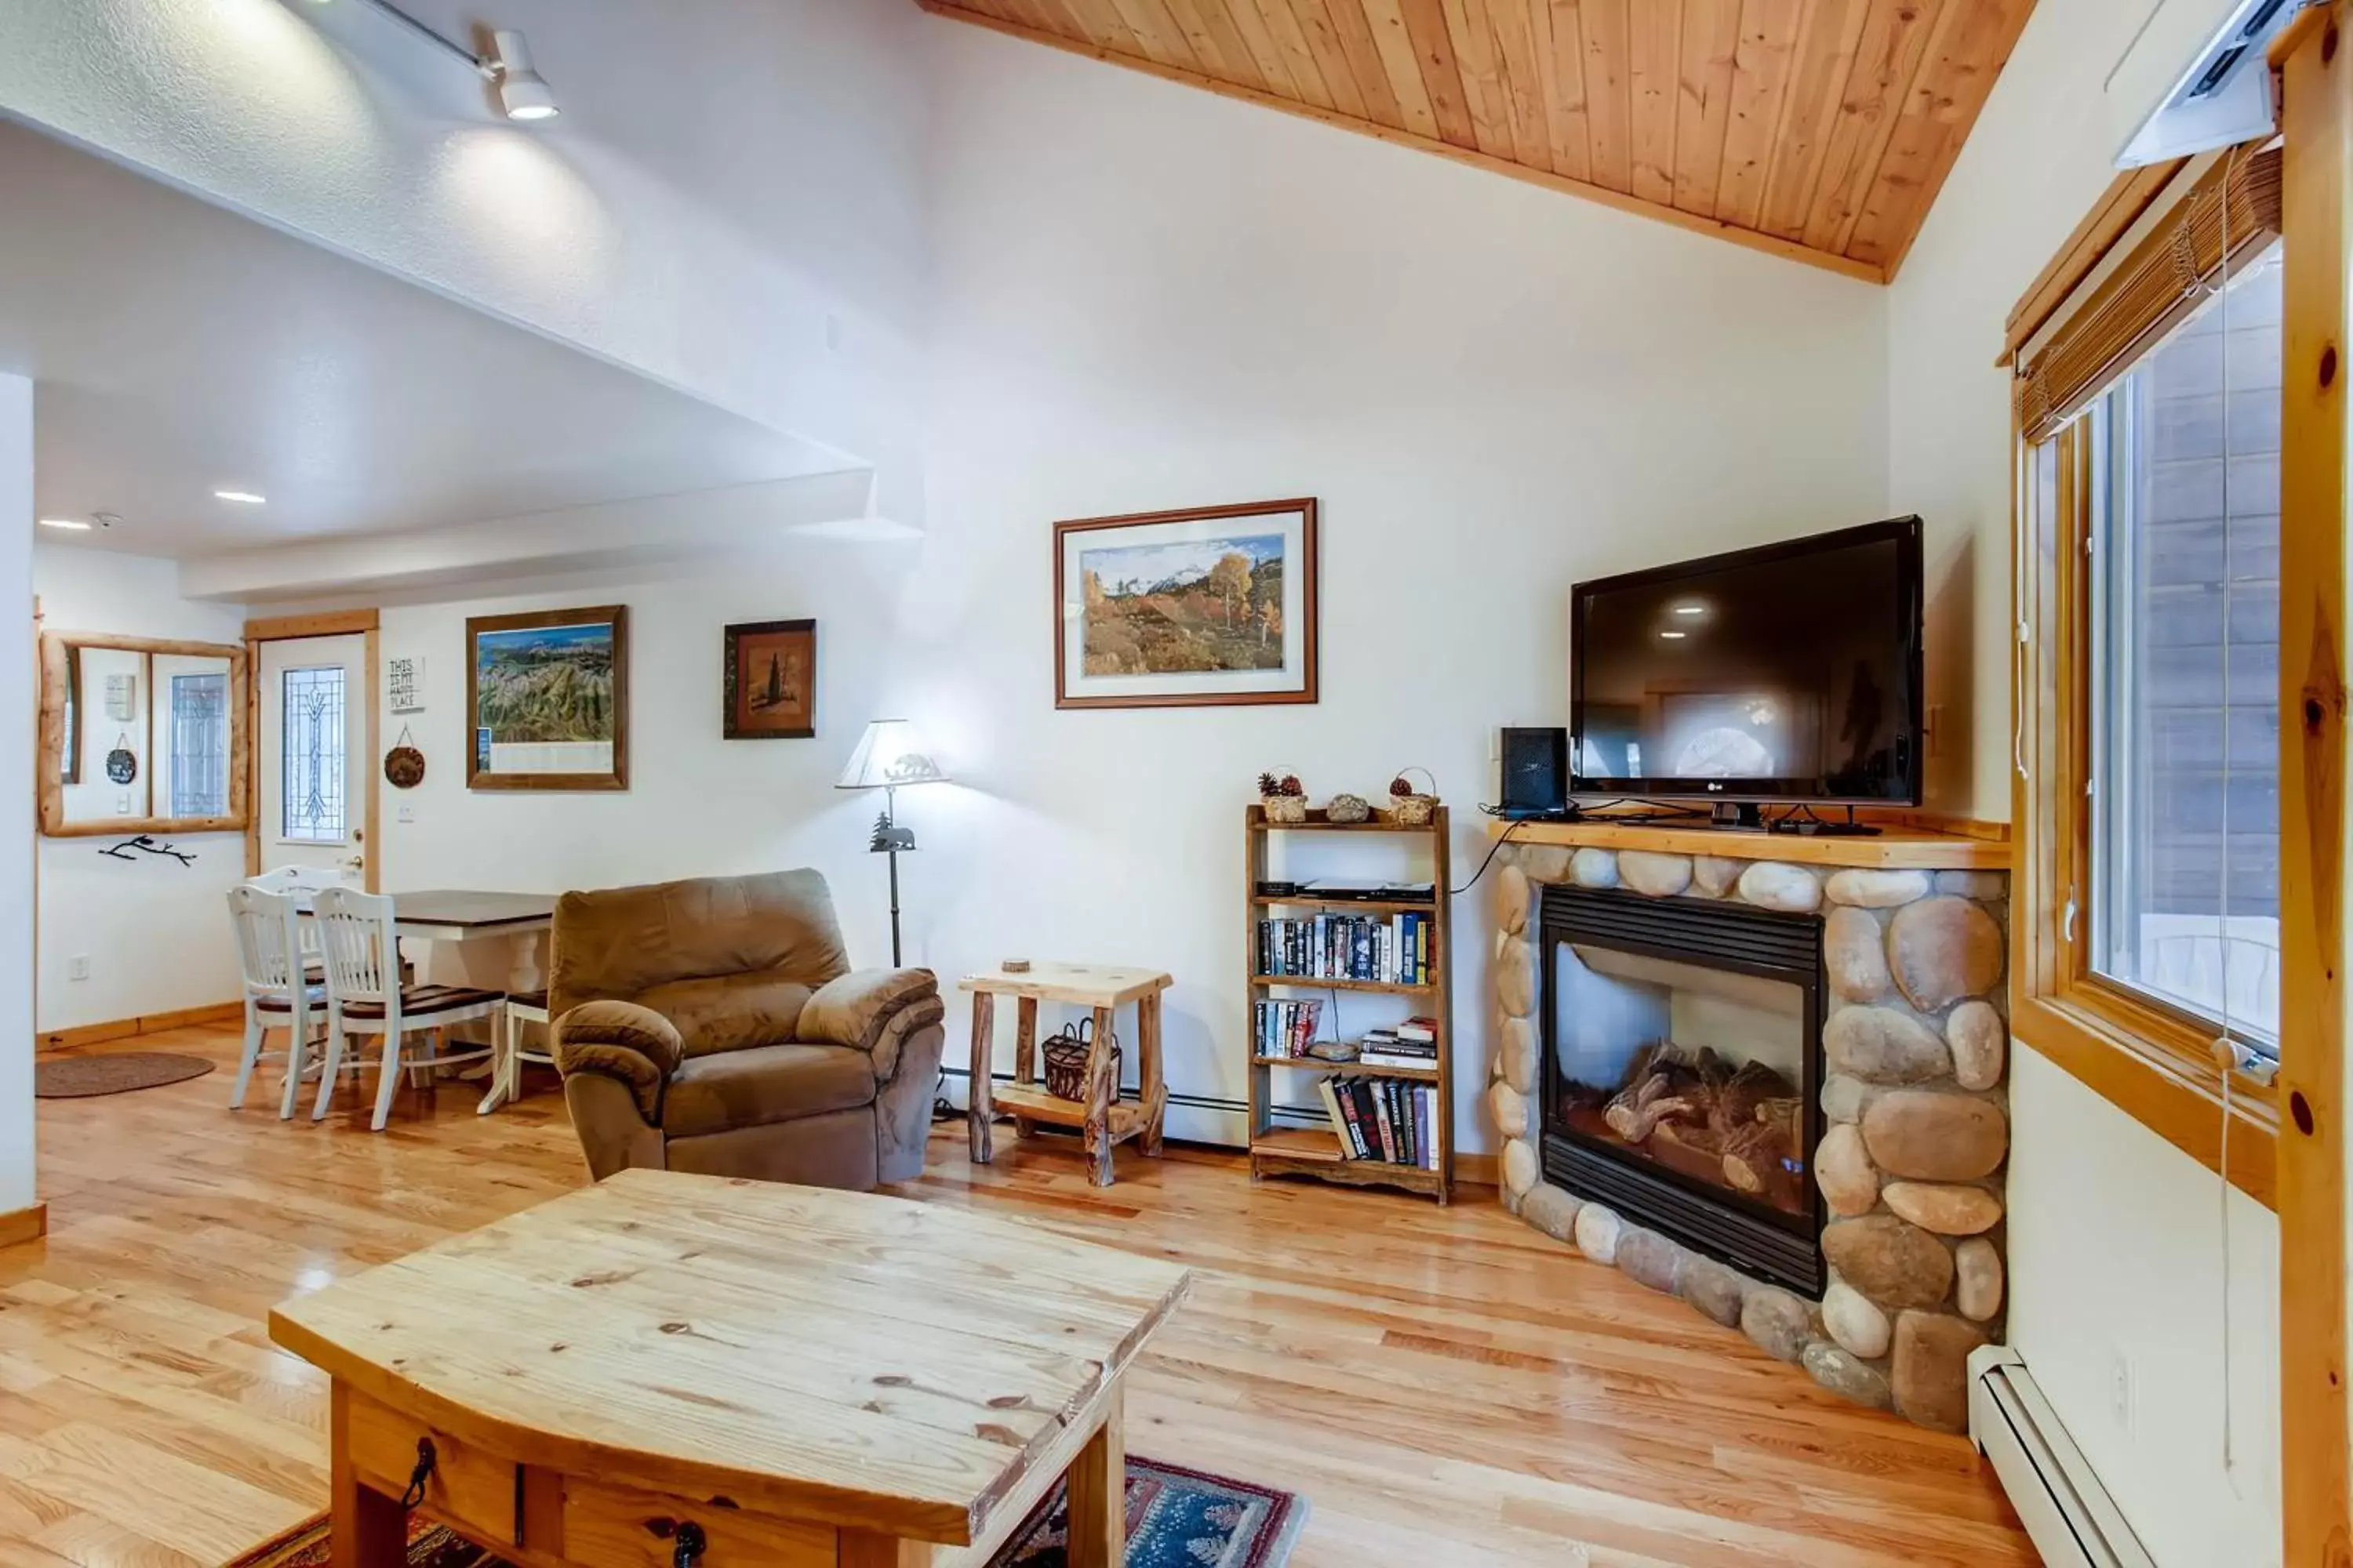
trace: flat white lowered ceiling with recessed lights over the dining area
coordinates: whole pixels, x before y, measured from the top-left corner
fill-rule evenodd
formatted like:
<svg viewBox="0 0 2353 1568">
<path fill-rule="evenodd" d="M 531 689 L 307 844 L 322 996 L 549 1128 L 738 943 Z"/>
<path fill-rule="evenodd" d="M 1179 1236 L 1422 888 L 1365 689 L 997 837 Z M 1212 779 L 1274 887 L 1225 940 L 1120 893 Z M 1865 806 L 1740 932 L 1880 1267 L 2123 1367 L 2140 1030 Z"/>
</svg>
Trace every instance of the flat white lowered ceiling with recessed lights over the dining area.
<svg viewBox="0 0 2353 1568">
<path fill-rule="evenodd" d="M 38 515 L 184 559 L 854 465 L 5 120 L 0 369 Z"/>
</svg>

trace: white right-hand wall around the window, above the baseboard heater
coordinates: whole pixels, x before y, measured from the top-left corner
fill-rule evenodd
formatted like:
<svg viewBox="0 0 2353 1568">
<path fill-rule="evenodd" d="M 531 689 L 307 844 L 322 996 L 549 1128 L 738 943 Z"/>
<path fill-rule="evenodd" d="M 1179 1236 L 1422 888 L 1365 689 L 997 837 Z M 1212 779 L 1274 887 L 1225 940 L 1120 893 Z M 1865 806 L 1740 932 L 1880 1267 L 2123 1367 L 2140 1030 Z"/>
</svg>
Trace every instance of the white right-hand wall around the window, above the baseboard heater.
<svg viewBox="0 0 2353 1568">
<path fill-rule="evenodd" d="M 2115 174 L 2097 89 L 2144 9 L 2035 7 L 1887 292 L 1889 494 L 1972 541 L 1974 637 L 1932 644 L 1932 679 L 1969 656 L 1977 816 L 2009 816 L 2009 376 L 1993 360 L 2009 306 Z M 2278 1218 L 2233 1197 L 2226 1258 L 2219 1178 L 2026 1048 L 2012 1110 L 2012 1342 L 2158 1563 L 2278 1563 Z"/>
</svg>

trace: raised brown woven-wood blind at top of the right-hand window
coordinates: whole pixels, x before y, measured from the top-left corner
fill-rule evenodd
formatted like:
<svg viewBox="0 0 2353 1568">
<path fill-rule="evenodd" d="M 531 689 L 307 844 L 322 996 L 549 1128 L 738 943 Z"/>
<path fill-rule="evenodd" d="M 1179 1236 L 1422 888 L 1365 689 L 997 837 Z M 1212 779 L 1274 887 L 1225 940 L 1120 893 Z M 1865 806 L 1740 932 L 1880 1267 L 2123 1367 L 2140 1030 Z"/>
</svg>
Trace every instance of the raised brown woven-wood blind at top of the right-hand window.
<svg viewBox="0 0 2353 1568">
<path fill-rule="evenodd" d="M 2228 247 L 2224 244 L 2228 235 Z M 2280 235 L 2280 148 L 2233 150 L 2017 369 L 2019 430 L 2047 440 Z"/>
</svg>

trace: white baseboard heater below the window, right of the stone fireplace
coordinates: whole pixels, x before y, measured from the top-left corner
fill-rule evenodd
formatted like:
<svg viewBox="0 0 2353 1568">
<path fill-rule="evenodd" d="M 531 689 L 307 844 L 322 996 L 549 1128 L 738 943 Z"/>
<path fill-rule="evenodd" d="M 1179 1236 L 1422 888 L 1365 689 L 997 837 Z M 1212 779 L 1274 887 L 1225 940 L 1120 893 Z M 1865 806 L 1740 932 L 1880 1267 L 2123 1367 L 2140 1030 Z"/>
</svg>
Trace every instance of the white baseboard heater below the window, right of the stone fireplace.
<svg viewBox="0 0 2353 1568">
<path fill-rule="evenodd" d="M 2158 1568 L 2007 1345 L 1969 1356 L 1969 1441 L 2049 1568 Z"/>
</svg>

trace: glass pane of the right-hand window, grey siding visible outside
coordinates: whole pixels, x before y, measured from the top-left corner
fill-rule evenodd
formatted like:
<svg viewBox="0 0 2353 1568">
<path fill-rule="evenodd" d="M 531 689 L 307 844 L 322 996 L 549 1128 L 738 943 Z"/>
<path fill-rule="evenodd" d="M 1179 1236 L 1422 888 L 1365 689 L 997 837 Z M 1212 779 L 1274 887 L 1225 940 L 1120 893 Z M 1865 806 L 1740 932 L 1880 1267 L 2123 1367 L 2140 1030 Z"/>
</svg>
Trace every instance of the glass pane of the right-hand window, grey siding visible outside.
<svg viewBox="0 0 2353 1568">
<path fill-rule="evenodd" d="M 2089 966 L 2278 1053 L 2278 247 L 2089 418 Z"/>
</svg>

